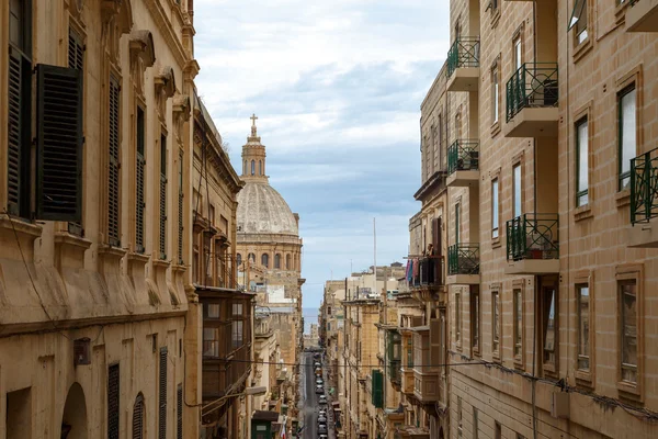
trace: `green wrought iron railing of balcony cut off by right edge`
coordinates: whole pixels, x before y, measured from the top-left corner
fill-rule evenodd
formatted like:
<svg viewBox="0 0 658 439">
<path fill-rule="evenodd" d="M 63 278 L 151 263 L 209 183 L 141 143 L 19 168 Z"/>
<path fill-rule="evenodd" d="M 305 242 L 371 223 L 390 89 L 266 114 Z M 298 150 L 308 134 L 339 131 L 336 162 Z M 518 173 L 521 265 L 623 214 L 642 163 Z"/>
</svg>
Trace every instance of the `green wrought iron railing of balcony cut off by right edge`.
<svg viewBox="0 0 658 439">
<path fill-rule="evenodd" d="M 631 224 L 658 216 L 658 148 L 631 159 Z"/>
</svg>

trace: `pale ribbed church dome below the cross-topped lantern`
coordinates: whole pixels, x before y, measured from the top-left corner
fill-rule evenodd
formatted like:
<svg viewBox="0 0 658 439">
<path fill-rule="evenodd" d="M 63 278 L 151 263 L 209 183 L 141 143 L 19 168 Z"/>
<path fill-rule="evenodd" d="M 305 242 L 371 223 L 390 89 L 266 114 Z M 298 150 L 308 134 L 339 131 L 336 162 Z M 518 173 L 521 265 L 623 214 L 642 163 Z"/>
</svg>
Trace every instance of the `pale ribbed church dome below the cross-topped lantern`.
<svg viewBox="0 0 658 439">
<path fill-rule="evenodd" d="M 247 234 L 298 235 L 291 207 L 266 181 L 247 181 L 238 193 L 238 227 Z"/>
</svg>

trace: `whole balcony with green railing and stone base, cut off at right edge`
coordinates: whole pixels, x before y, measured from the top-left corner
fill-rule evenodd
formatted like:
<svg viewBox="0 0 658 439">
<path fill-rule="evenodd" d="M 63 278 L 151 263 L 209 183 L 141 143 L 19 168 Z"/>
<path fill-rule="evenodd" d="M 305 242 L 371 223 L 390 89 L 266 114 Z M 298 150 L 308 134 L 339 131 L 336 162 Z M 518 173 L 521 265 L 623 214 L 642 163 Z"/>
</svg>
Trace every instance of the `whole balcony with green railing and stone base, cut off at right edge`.
<svg viewBox="0 0 658 439">
<path fill-rule="evenodd" d="M 631 160 L 628 247 L 658 248 L 658 148 Z"/>
</svg>

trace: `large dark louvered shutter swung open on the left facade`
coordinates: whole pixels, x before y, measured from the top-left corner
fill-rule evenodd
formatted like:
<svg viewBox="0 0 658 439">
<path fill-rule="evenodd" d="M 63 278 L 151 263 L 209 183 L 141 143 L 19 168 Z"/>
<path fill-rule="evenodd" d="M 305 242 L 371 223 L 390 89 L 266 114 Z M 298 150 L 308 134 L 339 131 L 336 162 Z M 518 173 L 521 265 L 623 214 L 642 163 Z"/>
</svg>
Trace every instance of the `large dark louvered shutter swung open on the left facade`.
<svg viewBox="0 0 658 439">
<path fill-rule="evenodd" d="M 82 71 L 36 66 L 36 217 L 82 219 Z"/>
</svg>

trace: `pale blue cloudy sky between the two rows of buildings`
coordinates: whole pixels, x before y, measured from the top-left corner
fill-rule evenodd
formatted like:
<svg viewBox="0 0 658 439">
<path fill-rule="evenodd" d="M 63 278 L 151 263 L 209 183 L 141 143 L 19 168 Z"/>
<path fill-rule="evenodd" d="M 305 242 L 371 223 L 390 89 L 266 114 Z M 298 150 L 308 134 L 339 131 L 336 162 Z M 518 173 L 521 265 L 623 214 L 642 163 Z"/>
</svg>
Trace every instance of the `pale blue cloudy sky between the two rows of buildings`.
<svg viewBox="0 0 658 439">
<path fill-rule="evenodd" d="M 404 261 L 420 210 L 420 103 L 449 49 L 442 0 L 195 0 L 198 93 L 240 169 L 249 116 L 300 216 L 304 307 Z M 239 173 L 239 172 L 238 172 Z"/>
</svg>

